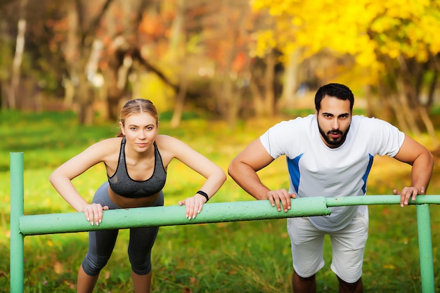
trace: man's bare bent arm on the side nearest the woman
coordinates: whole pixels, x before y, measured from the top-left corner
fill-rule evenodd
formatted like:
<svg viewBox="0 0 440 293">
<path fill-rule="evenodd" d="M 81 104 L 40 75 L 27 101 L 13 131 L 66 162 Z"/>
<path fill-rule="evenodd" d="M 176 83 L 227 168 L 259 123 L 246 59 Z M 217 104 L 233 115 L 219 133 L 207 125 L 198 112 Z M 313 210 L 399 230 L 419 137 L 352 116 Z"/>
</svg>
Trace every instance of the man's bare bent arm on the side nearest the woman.
<svg viewBox="0 0 440 293">
<path fill-rule="evenodd" d="M 290 198 L 295 198 L 295 195 L 288 194 L 285 189 L 270 190 L 257 175 L 257 171 L 271 162 L 273 162 L 273 157 L 268 154 L 258 138 L 233 159 L 229 164 L 228 174 L 241 188 L 257 200 L 269 200 L 272 206 L 277 207 L 278 211 L 281 210 L 281 203 L 284 211 L 287 211 L 291 206 Z"/>
</svg>

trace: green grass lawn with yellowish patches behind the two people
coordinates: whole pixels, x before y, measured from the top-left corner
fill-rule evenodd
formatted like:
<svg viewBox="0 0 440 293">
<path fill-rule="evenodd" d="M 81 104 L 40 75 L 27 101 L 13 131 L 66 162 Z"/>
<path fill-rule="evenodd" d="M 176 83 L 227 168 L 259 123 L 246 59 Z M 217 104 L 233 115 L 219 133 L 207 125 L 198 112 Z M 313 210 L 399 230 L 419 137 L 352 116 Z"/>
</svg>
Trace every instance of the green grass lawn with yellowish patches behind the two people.
<svg viewBox="0 0 440 293">
<path fill-rule="evenodd" d="M 254 138 L 283 119 L 260 119 L 228 129 L 188 115 L 179 129 L 163 115 L 160 132 L 181 138 L 225 171 L 231 159 Z M 9 152 L 25 153 L 25 214 L 72 212 L 48 183 L 59 164 L 88 145 L 116 133 L 114 124 L 79 126 L 72 112 L 0 113 L 0 292 L 9 291 Z M 425 136 L 416 138 L 429 147 Z M 429 194 L 440 194 L 436 164 Z M 259 172 L 272 188 L 287 188 L 285 162 L 278 159 Z M 75 178 L 85 198 L 105 181 L 99 165 Z M 179 162 L 172 162 L 164 188 L 165 204 L 192 195 L 202 178 Z M 408 185 L 410 167 L 377 157 L 368 181 L 368 194 L 391 194 Z M 212 202 L 252 200 L 231 178 Z M 436 290 L 440 291 L 439 208 L 433 206 L 432 242 Z M 128 230 L 121 230 L 108 266 L 95 292 L 132 292 L 127 258 Z M 75 292 L 77 268 L 87 249 L 86 233 L 25 238 L 25 292 Z M 211 223 L 160 228 L 153 248 L 153 292 L 291 292 L 292 260 L 285 219 Z M 330 270 L 330 241 L 325 242 L 325 267 L 317 274 L 318 292 L 337 292 Z M 363 267 L 365 292 L 421 292 L 415 207 L 370 207 L 370 237 Z"/>
</svg>

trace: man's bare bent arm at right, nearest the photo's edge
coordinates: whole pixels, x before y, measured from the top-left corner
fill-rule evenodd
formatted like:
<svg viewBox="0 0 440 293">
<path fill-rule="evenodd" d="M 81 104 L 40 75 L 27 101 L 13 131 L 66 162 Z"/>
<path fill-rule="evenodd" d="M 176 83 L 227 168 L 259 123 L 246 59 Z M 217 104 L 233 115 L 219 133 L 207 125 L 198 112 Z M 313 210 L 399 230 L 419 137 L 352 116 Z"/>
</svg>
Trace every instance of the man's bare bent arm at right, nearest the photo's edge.
<svg viewBox="0 0 440 293">
<path fill-rule="evenodd" d="M 401 192 L 394 190 L 394 194 L 400 193 L 401 207 L 403 207 L 403 205 L 408 204 L 410 197 L 415 200 L 418 194 L 424 195 L 426 193 L 434 167 L 434 156 L 427 148 L 414 141 L 413 138 L 405 136 L 405 140 L 394 158 L 413 166 L 411 169 L 411 186 L 403 188 Z"/>
</svg>

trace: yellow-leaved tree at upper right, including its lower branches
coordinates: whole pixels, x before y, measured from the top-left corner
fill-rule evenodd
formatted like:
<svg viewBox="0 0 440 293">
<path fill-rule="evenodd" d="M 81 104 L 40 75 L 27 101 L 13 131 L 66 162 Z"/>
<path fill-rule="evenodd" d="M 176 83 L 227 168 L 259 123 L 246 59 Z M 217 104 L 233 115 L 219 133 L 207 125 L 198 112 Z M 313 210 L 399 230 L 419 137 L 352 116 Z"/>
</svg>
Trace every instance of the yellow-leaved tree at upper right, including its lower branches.
<svg viewBox="0 0 440 293">
<path fill-rule="evenodd" d="M 404 115 L 410 121 L 403 123 L 416 131 L 417 118 L 422 117 L 432 129 L 429 103 L 419 94 L 432 93 L 438 79 L 439 1 L 253 0 L 252 6 L 268 11 L 276 24 L 273 30 L 259 32 L 258 53 L 267 48 L 278 48 L 285 56 L 299 52 L 299 62 L 322 52 L 351 58 L 346 68 L 351 84 L 368 84 L 396 96 L 400 103 L 389 103 L 396 112 L 406 112 L 405 105 L 419 109 Z"/>
</svg>

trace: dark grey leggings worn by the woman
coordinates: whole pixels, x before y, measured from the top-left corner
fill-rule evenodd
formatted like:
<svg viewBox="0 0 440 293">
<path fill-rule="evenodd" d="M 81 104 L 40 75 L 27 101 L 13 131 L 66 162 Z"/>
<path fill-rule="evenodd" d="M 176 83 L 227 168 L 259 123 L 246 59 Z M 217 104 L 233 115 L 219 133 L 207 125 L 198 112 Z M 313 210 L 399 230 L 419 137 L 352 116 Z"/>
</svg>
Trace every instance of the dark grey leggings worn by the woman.
<svg viewBox="0 0 440 293">
<path fill-rule="evenodd" d="M 108 206 L 109 209 L 120 209 L 108 197 L 108 182 L 96 190 L 93 202 Z M 162 191 L 151 207 L 163 206 Z M 153 248 L 159 227 L 130 228 L 129 260 L 131 270 L 138 275 L 146 275 L 151 271 L 151 249 Z M 82 261 L 82 268 L 87 275 L 98 275 L 107 264 L 115 247 L 119 230 L 98 230 L 89 232 L 89 251 Z"/>
</svg>

